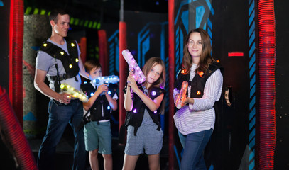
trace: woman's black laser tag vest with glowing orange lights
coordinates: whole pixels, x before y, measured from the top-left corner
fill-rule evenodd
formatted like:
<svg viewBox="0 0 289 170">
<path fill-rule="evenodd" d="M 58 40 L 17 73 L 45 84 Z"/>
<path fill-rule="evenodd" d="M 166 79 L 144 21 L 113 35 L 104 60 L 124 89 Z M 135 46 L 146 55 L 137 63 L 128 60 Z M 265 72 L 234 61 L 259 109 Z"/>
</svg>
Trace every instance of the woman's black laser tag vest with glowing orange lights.
<svg viewBox="0 0 289 170">
<path fill-rule="evenodd" d="M 207 74 L 195 74 L 195 77 L 190 81 L 190 72 L 182 74 L 179 71 L 177 81 L 175 81 L 175 88 L 180 90 L 182 88 L 182 81 L 187 81 L 191 86 L 191 98 L 202 98 L 207 79 L 217 70 L 221 68 L 221 64 L 213 62 L 207 69 Z M 188 91 L 187 91 L 188 92 Z M 188 96 L 188 95 L 187 95 Z"/>
</svg>

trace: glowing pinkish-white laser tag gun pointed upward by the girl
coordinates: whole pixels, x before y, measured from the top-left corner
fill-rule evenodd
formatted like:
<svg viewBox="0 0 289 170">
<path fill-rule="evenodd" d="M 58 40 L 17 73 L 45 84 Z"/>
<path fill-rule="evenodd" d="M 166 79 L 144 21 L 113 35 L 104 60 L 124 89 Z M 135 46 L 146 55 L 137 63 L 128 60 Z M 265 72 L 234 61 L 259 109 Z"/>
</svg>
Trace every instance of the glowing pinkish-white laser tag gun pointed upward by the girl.
<svg viewBox="0 0 289 170">
<path fill-rule="evenodd" d="M 138 81 L 138 84 L 142 84 L 143 81 L 146 81 L 146 77 L 141 71 L 141 68 L 138 66 L 138 63 L 136 60 L 134 60 L 133 55 L 131 55 L 131 52 L 129 50 L 123 50 L 122 55 L 124 56 L 124 59 L 126 60 L 127 64 L 129 64 L 129 71 L 132 71 L 136 77 L 134 79 Z"/>
</svg>

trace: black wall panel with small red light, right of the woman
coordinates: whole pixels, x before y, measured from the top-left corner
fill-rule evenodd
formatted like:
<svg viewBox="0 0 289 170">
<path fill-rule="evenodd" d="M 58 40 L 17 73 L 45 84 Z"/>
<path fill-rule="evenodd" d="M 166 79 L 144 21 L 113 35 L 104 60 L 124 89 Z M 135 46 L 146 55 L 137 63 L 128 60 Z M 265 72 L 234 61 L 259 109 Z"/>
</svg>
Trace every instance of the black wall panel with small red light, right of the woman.
<svg viewBox="0 0 289 170">
<path fill-rule="evenodd" d="M 216 169 L 249 169 L 249 4 L 248 1 L 212 1 L 213 56 L 219 58 L 224 67 L 224 90 L 231 91 L 231 106 L 222 98 L 223 108 L 217 113 L 212 140 Z M 228 52 L 243 52 L 242 57 L 228 57 Z M 223 96 L 224 97 L 224 96 Z M 251 148 L 253 150 L 253 148 Z M 250 149 L 250 150 L 251 150 Z"/>
</svg>

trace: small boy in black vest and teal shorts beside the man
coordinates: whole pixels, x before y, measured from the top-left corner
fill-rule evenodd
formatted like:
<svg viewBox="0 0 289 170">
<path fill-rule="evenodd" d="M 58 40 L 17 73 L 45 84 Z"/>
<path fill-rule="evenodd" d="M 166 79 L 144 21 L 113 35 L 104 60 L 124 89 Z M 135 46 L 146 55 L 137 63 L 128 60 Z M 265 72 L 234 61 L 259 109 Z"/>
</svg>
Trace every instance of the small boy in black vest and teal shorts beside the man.
<svg viewBox="0 0 289 170">
<path fill-rule="evenodd" d="M 84 67 L 90 79 L 102 77 L 102 67 L 96 61 L 88 60 Z M 112 169 L 110 114 L 111 109 L 117 109 L 116 89 L 109 93 L 107 84 L 97 86 L 93 81 L 82 84 L 81 87 L 89 97 L 89 101 L 83 103 L 84 112 L 89 112 L 87 118 L 90 120 L 84 125 L 85 149 L 89 152 L 89 164 L 92 169 L 99 169 L 97 154 L 100 153 L 104 157 L 104 169 Z"/>
</svg>

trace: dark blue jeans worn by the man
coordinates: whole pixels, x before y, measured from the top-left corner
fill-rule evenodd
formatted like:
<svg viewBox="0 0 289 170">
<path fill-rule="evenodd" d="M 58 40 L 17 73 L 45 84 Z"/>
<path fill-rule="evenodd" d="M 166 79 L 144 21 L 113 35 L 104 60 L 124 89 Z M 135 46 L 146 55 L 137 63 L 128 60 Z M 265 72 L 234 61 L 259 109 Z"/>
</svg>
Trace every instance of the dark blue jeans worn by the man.
<svg viewBox="0 0 289 170">
<path fill-rule="evenodd" d="M 85 169 L 86 151 L 84 147 L 83 128 L 76 130 L 77 125 L 82 121 L 83 106 L 79 100 L 71 100 L 70 104 L 58 105 L 50 100 L 48 106 L 48 125 L 46 135 L 38 153 L 38 169 L 55 169 L 54 157 L 56 145 L 60 141 L 67 124 L 72 127 L 75 136 L 75 151 L 72 169 Z"/>
</svg>

